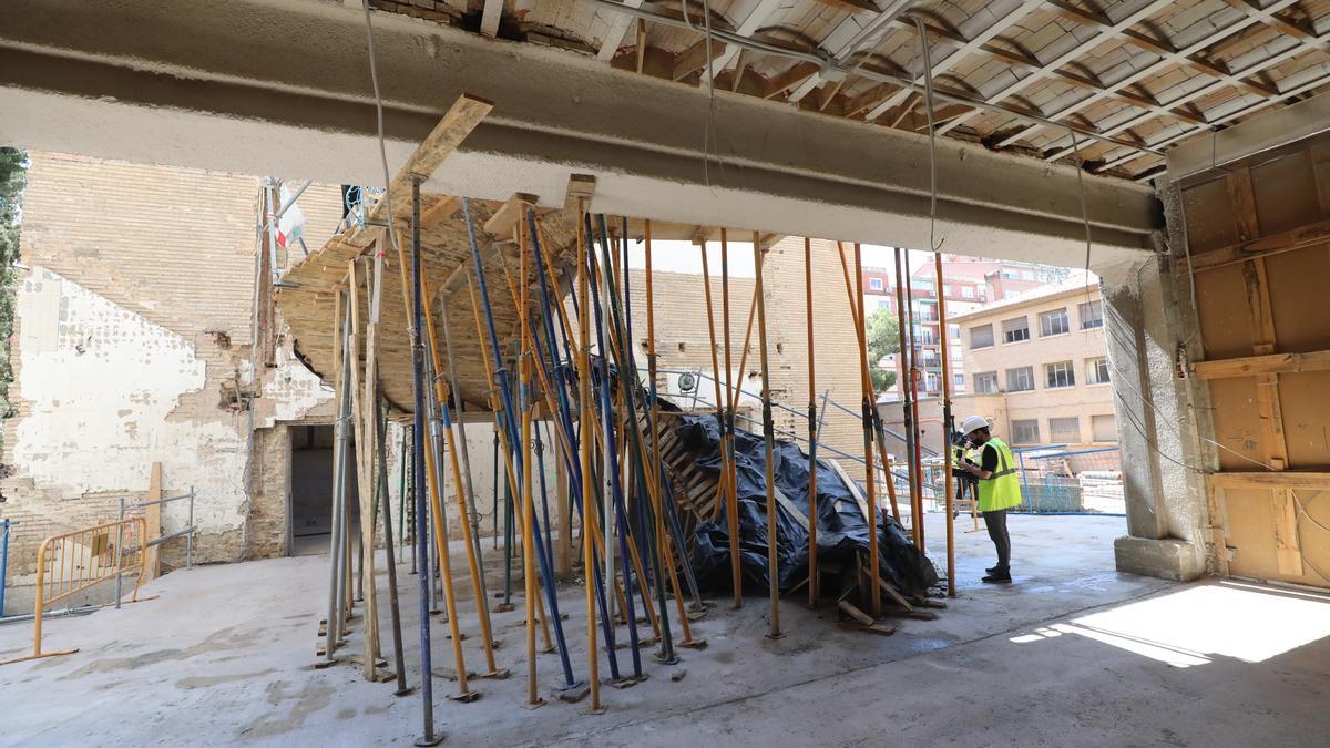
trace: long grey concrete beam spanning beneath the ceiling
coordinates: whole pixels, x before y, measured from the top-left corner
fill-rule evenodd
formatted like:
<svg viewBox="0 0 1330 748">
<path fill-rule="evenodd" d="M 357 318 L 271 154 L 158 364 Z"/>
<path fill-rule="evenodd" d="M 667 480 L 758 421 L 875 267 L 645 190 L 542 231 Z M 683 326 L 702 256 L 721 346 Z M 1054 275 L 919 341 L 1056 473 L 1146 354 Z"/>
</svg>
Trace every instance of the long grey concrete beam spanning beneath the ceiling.
<svg viewBox="0 0 1330 748">
<path fill-rule="evenodd" d="M 922 248 L 923 136 L 819 117 L 610 69 L 593 57 L 404 16 L 375 16 L 390 169 L 447 105 L 495 109 L 426 185 L 694 225 Z M 356 7 L 318 0 L 11 0 L 0 4 L 0 141 L 325 182 L 378 184 Z M 704 138 L 710 128 L 710 162 Z M 1079 265 L 1076 172 L 938 142 L 938 237 L 948 252 Z M 1149 256 L 1153 193 L 1084 177 L 1095 262 Z"/>
</svg>

